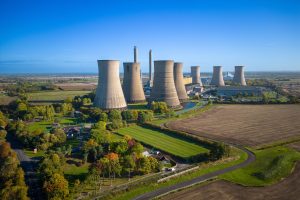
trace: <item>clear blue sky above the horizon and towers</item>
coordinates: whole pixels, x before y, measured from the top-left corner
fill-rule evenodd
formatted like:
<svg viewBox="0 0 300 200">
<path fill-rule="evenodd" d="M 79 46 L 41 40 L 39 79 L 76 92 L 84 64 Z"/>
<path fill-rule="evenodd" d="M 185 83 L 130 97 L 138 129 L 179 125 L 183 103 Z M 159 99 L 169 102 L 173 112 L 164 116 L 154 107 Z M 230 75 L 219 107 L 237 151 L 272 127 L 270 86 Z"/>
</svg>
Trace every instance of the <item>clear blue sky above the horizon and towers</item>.
<svg viewBox="0 0 300 200">
<path fill-rule="evenodd" d="M 0 73 L 97 72 L 97 59 L 300 70 L 298 0 L 0 0 Z M 122 66 L 121 66 L 122 71 Z"/>
</svg>

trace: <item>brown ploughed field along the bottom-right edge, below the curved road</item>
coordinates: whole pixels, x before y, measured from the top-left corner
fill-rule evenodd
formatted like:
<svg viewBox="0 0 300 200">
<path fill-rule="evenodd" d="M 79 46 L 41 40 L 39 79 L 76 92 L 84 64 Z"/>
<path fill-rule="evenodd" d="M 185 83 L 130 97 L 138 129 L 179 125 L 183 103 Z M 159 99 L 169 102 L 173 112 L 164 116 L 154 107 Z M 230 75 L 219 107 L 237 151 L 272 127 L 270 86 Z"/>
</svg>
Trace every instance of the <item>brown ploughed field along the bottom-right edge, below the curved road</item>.
<svg viewBox="0 0 300 200">
<path fill-rule="evenodd" d="M 300 163 L 294 172 L 283 181 L 267 187 L 243 187 L 227 181 L 216 181 L 168 194 L 164 200 L 298 200 L 300 197 Z"/>
</svg>

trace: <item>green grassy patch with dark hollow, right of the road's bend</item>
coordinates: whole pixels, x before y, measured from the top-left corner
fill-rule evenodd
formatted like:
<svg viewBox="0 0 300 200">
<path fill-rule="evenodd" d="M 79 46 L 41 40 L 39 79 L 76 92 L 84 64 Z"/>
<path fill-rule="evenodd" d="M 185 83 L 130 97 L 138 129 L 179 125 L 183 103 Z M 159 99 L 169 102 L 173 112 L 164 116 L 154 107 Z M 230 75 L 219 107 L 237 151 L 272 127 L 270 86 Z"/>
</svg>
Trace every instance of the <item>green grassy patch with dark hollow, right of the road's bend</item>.
<svg viewBox="0 0 300 200">
<path fill-rule="evenodd" d="M 254 151 L 256 161 L 220 178 L 245 186 L 264 186 L 287 177 L 300 153 L 282 146 Z"/>
</svg>

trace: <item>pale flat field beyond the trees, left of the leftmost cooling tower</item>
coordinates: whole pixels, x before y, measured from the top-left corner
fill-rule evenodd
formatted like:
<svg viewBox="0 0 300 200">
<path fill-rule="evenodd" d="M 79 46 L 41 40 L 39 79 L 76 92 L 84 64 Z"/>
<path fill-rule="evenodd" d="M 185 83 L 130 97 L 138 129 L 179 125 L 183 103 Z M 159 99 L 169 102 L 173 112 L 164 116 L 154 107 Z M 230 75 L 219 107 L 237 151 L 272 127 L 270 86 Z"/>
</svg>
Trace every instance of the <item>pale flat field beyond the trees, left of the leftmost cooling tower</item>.
<svg viewBox="0 0 300 200">
<path fill-rule="evenodd" d="M 29 101 L 55 101 L 65 100 L 68 97 L 82 96 L 90 93 L 90 91 L 42 91 L 28 93 Z"/>
</svg>

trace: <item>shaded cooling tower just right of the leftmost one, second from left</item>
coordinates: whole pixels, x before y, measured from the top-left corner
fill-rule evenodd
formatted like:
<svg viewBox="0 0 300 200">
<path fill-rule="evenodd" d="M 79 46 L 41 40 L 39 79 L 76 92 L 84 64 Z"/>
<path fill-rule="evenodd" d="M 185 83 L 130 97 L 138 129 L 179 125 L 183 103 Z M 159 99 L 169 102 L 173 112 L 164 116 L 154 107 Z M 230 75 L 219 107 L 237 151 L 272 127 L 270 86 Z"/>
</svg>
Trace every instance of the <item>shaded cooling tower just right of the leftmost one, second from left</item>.
<svg viewBox="0 0 300 200">
<path fill-rule="evenodd" d="M 127 103 L 145 102 L 140 76 L 140 63 L 126 62 L 124 66 L 123 92 Z"/>
</svg>

